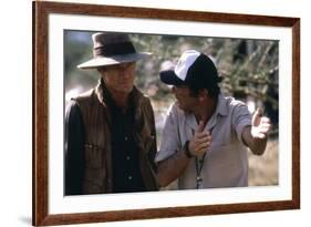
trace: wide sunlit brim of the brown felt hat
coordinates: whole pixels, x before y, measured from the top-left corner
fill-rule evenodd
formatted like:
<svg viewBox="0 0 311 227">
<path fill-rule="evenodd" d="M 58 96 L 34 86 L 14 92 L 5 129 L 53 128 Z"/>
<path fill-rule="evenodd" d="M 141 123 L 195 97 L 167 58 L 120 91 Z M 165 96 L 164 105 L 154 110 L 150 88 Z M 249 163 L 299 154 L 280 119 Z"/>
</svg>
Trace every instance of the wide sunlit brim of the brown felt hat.
<svg viewBox="0 0 311 227">
<path fill-rule="evenodd" d="M 113 55 L 113 56 L 97 56 L 95 59 L 91 59 L 82 64 L 79 64 L 77 68 L 81 70 L 93 70 L 99 69 L 106 65 L 121 64 L 126 62 L 135 62 L 142 60 L 146 56 L 149 56 L 152 53 L 149 52 L 139 52 L 139 53 L 131 53 L 123 55 Z"/>
</svg>

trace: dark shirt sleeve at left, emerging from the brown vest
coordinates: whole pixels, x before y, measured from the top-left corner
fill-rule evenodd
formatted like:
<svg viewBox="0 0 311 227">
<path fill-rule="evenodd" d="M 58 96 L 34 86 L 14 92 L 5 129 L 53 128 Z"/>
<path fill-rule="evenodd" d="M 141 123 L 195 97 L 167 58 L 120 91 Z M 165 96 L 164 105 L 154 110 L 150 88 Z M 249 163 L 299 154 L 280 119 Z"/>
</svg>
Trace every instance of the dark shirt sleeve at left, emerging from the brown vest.
<svg viewBox="0 0 311 227">
<path fill-rule="evenodd" d="M 65 114 L 65 195 L 81 195 L 84 169 L 84 125 L 79 105 L 71 101 Z"/>
</svg>

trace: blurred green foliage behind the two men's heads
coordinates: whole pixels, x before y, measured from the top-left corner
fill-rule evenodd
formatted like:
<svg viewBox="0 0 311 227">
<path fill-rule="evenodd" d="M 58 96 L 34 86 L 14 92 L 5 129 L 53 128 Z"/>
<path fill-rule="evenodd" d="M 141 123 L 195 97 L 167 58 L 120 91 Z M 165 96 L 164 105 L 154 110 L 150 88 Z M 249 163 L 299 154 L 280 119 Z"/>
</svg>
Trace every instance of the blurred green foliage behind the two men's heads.
<svg viewBox="0 0 311 227">
<path fill-rule="evenodd" d="M 64 81 L 66 100 L 93 87 L 100 74 L 95 70 L 79 70 L 77 64 L 92 59 L 92 33 L 64 32 Z M 212 58 L 224 76 L 221 91 L 255 107 L 263 106 L 266 114 L 278 124 L 279 42 L 277 40 L 129 34 L 137 51 L 153 54 L 137 62 L 136 85 L 148 95 L 155 111 L 163 112 L 174 101 L 170 87 L 158 79 L 160 70 L 174 65 L 180 54 L 195 49 Z"/>
</svg>

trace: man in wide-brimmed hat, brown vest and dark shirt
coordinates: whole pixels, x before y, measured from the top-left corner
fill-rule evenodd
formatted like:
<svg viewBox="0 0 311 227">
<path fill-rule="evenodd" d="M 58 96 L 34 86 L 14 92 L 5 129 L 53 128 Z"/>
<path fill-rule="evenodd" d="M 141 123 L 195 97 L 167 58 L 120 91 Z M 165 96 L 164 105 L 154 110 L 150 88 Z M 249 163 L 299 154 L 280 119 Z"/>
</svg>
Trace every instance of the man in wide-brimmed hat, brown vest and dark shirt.
<svg viewBox="0 0 311 227">
<path fill-rule="evenodd" d="M 157 190 L 151 101 L 134 85 L 136 52 L 127 34 L 92 35 L 96 87 L 72 99 L 65 116 L 65 195 Z"/>
</svg>

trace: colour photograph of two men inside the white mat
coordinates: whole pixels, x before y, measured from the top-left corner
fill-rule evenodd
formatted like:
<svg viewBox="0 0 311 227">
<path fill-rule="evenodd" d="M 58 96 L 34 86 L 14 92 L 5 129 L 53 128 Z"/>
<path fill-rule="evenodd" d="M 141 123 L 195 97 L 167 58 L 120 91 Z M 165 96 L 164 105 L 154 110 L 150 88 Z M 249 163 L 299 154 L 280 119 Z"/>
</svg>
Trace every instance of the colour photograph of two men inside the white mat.
<svg viewBox="0 0 311 227">
<path fill-rule="evenodd" d="M 278 185 L 279 41 L 64 31 L 65 195 Z"/>
</svg>

